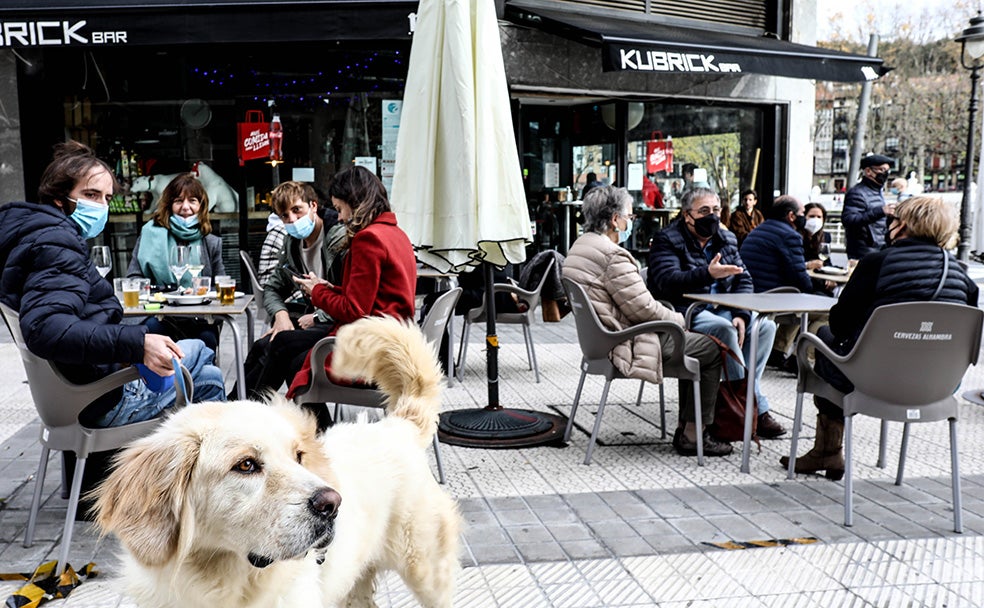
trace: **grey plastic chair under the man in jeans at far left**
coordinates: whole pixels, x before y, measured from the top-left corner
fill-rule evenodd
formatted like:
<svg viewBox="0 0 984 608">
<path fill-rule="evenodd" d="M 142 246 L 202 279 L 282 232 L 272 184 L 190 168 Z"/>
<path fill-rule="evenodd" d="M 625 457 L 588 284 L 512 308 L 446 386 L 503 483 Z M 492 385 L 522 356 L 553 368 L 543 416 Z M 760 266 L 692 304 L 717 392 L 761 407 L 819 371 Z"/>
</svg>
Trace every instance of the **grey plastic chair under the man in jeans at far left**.
<svg viewBox="0 0 984 608">
<path fill-rule="evenodd" d="M 41 459 L 34 480 L 34 497 L 31 500 L 31 512 L 27 521 L 27 532 L 24 535 L 25 547 L 34 544 L 34 530 L 38 511 L 41 508 L 41 491 L 44 487 L 51 450 L 75 452 L 77 459 L 58 553 L 57 567 L 61 571 L 68 563 L 68 550 L 72 545 L 72 533 L 75 528 L 75 513 L 78 510 L 79 494 L 82 490 L 82 475 L 89 454 L 115 450 L 134 439 L 148 435 L 160 424 L 161 418 L 104 429 L 82 426 L 78 419 L 82 410 L 113 389 L 140 378 L 137 369 L 127 367 L 89 384 L 74 384 L 68 381 L 50 361 L 28 350 L 24 343 L 24 335 L 21 333 L 20 315 L 16 311 L 5 304 L 0 304 L 0 313 L 3 314 L 14 344 L 20 352 L 27 383 L 31 389 L 31 398 L 41 419 Z M 181 371 L 185 379 L 188 399 L 191 400 L 194 390 L 191 373 L 184 366 L 181 367 Z M 178 391 L 174 407 L 184 405 L 185 399 L 181 391 Z"/>
</svg>

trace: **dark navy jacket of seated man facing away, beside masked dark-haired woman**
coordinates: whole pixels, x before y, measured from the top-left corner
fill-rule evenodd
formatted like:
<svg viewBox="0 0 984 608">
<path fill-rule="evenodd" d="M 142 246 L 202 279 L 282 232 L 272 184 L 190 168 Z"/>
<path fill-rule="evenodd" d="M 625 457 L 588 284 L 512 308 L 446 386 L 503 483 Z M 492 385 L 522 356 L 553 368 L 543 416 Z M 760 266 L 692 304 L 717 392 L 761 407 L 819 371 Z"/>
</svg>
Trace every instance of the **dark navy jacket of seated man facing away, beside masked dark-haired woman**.
<svg viewBox="0 0 984 608">
<path fill-rule="evenodd" d="M 789 222 L 765 220 L 748 233 L 739 251 L 756 292 L 776 287 L 813 292 L 813 282 L 806 274 L 803 236 Z"/>
</svg>

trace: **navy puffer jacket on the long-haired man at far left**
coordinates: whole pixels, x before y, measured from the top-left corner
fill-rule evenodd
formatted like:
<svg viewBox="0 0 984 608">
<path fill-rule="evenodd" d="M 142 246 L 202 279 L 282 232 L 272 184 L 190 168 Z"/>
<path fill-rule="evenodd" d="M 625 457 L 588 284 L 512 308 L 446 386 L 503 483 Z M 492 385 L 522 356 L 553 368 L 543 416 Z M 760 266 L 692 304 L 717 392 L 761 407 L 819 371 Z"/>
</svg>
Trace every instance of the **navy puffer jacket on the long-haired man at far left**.
<svg viewBox="0 0 984 608">
<path fill-rule="evenodd" d="M 0 226 L 0 300 L 20 312 L 31 352 L 77 383 L 143 361 L 147 330 L 119 324 L 113 285 L 89 261 L 74 221 L 57 207 L 18 202 L 0 207 Z"/>
</svg>

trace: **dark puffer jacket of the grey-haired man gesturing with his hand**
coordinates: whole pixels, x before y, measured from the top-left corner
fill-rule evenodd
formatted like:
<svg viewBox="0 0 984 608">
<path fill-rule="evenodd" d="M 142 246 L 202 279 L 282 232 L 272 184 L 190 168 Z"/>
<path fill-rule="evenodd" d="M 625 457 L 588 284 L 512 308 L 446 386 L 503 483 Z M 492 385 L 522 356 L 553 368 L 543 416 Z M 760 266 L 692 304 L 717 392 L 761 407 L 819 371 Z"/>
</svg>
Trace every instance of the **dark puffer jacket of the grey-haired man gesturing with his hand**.
<svg viewBox="0 0 984 608">
<path fill-rule="evenodd" d="M 738 240 L 726 228 L 719 229 L 708 241 L 707 247 L 721 253 L 722 264 L 745 267 L 738 255 Z M 686 312 L 693 300 L 683 297 L 683 294 L 710 293 L 711 285 L 715 285 L 716 293 L 752 293 L 752 277 L 747 270 L 715 281 L 707 270 L 708 259 L 704 252 L 682 217 L 657 232 L 649 249 L 646 281 L 653 297 L 667 300 L 679 312 Z M 749 319 L 746 310 L 732 310 L 732 314 L 744 318 L 746 322 Z"/>
</svg>

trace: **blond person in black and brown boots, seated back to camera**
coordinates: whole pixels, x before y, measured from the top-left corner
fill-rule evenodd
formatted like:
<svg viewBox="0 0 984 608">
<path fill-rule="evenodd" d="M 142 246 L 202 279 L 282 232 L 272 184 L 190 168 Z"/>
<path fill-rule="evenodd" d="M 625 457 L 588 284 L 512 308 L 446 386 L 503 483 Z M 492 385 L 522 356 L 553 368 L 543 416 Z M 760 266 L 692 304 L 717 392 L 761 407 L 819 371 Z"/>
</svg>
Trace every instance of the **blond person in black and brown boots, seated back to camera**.
<svg viewBox="0 0 984 608">
<path fill-rule="evenodd" d="M 915 197 L 899 203 L 886 233 L 890 244 L 858 262 L 830 309 L 830 325 L 820 328 L 818 337 L 834 352 L 846 355 L 879 306 L 930 300 L 977 306 L 977 284 L 946 250 L 953 246 L 956 232 L 956 213 L 943 199 Z M 818 354 L 814 369 L 838 391 L 854 390 L 826 357 Z M 824 471 L 836 481 L 844 476 L 844 410 L 816 395 L 813 403 L 816 440 L 810 451 L 796 458 L 796 472 Z M 788 467 L 789 457 L 783 456 L 779 463 Z"/>
</svg>

